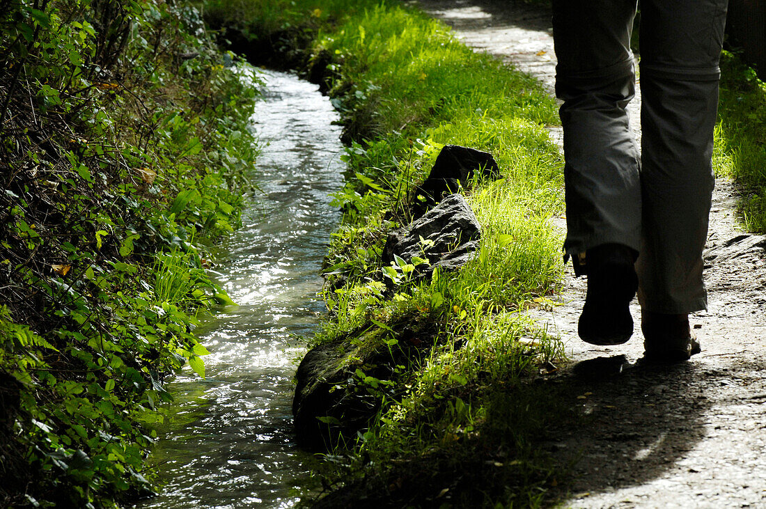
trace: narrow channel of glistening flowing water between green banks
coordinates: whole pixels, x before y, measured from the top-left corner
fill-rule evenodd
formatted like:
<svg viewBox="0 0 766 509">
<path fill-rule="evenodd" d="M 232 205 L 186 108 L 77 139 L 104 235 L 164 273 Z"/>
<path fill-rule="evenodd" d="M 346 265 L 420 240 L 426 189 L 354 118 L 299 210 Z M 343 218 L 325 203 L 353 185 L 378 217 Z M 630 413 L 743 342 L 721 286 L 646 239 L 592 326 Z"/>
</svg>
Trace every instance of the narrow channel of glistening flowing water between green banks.
<svg viewBox="0 0 766 509">
<path fill-rule="evenodd" d="M 175 416 L 152 462 L 165 488 L 137 507 L 290 507 L 309 478 L 292 430 L 292 378 L 323 305 L 319 269 L 338 214 L 338 119 L 311 83 L 267 72 L 254 129 L 268 145 L 244 226 L 218 250 L 215 278 L 239 306 L 199 331 L 207 378 L 179 376 Z"/>
</svg>

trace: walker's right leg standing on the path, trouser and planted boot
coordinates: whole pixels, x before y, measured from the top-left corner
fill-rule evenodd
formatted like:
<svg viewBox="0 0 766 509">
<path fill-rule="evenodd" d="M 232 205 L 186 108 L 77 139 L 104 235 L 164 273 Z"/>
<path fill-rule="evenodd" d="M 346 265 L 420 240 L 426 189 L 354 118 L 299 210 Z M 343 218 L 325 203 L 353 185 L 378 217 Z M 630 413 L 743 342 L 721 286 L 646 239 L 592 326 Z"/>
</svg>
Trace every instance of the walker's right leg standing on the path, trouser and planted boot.
<svg viewBox="0 0 766 509">
<path fill-rule="evenodd" d="M 689 357 L 687 315 L 707 307 L 702 249 L 714 184 L 726 5 L 726 0 L 641 2 L 639 302 L 647 355 L 670 354 L 668 360 Z"/>
</svg>

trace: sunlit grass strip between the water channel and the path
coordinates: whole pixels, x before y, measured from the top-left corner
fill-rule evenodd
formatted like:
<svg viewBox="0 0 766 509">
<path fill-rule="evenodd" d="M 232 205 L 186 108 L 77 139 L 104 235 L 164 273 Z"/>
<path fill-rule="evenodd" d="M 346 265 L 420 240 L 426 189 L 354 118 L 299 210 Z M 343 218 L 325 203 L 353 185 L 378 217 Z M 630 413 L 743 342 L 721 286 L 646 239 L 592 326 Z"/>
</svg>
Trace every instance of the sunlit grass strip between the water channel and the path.
<svg viewBox="0 0 766 509">
<path fill-rule="evenodd" d="M 227 8 L 208 2 L 205 13 L 221 22 Z M 526 387 L 560 352 L 521 312 L 547 305 L 563 272 L 561 239 L 548 223 L 563 207 L 561 158 L 545 129 L 558 122 L 555 101 L 395 2 L 238 2 L 233 10 L 257 40 L 308 20 L 305 61 L 331 57 L 322 79 L 343 116 L 349 170 L 326 259 L 329 318 L 314 341 L 362 351 L 382 338 L 396 359 L 385 376 L 378 365 L 353 366 L 342 389 L 374 415 L 358 433 L 332 436 L 320 468 L 326 483 L 392 507 L 439 497 L 535 504 L 555 480 L 530 444 L 557 406 L 539 404 L 544 396 Z M 463 191 L 483 228 L 480 255 L 459 273 L 414 282 L 408 266 L 381 269 L 381 249 L 388 231 L 411 220 L 412 190 L 445 144 L 491 152 L 502 179 Z M 401 355 L 413 344 L 417 353 Z M 333 419 L 329 426 L 342 428 Z"/>
</svg>

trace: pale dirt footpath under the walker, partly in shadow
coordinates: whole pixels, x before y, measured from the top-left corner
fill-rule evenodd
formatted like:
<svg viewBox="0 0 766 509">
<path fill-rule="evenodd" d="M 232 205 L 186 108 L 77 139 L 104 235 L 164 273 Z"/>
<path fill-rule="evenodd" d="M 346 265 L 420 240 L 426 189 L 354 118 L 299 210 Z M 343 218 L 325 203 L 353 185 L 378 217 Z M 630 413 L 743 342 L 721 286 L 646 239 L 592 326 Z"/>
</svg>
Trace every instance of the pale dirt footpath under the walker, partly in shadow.
<svg viewBox="0 0 766 509">
<path fill-rule="evenodd" d="M 532 73 L 552 92 L 550 15 L 500 0 L 419 5 L 476 51 Z M 637 136 L 639 105 L 637 96 Z M 560 142 L 560 130 L 552 136 Z M 550 383 L 575 387 L 573 409 L 585 416 L 550 423 L 557 439 L 546 446 L 562 468 L 573 465 L 556 494 L 565 507 L 766 507 L 766 237 L 738 230 L 735 204 L 732 183 L 719 178 L 705 250 L 709 311 L 692 317 L 702 344 L 692 361 L 636 363 L 643 353 L 636 302 L 637 327 L 627 344 L 580 341 L 585 286 L 571 267 L 559 305 L 532 310 L 573 361 Z"/>
</svg>

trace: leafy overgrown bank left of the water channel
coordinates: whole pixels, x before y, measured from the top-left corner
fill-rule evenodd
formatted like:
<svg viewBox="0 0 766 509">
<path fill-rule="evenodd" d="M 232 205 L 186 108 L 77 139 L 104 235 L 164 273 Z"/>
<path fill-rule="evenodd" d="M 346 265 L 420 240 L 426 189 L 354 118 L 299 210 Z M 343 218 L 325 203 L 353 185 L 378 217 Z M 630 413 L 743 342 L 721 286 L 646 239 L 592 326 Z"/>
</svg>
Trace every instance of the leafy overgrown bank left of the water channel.
<svg viewBox="0 0 766 509">
<path fill-rule="evenodd" d="M 113 507 L 228 297 L 254 93 L 182 2 L 0 6 L 0 506 Z"/>
</svg>

